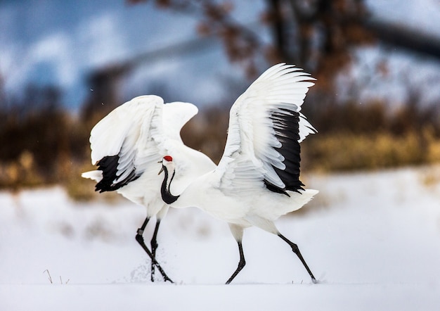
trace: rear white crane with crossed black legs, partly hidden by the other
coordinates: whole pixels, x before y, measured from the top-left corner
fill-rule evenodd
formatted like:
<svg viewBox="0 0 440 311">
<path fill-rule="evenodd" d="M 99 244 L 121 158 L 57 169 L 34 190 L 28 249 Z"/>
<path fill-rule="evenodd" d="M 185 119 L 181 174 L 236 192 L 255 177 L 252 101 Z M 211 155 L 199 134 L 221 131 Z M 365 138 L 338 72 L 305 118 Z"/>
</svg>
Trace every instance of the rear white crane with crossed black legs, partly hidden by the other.
<svg viewBox="0 0 440 311">
<path fill-rule="evenodd" d="M 138 96 L 112 110 L 91 130 L 91 163 L 98 169 L 84 172 L 82 177 L 98 182 L 96 191 L 117 191 L 146 207 L 147 216 L 136 241 L 151 258 L 151 281 L 156 266 L 164 280 L 172 282 L 155 259 L 157 231 L 169 208 L 161 198 L 157 162 L 164 153 L 179 155 L 174 182 L 181 190 L 195 177 L 216 167 L 207 155 L 181 140 L 181 128 L 197 113 L 198 108 L 192 103 L 164 104 L 159 96 Z M 152 217 L 156 217 L 156 225 L 150 251 L 143 241 L 143 231 Z"/>
</svg>

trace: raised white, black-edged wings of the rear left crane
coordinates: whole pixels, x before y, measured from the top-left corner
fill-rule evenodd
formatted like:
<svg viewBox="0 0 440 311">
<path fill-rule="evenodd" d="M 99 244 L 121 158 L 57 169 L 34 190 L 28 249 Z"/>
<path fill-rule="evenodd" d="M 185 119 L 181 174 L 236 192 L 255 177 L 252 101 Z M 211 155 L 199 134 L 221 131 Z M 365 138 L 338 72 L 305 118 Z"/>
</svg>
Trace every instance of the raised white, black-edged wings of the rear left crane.
<svg viewBox="0 0 440 311">
<path fill-rule="evenodd" d="M 101 192 L 138 179 L 149 165 L 157 165 L 162 153 L 169 152 L 168 139 L 181 141 L 181 127 L 197 113 L 191 103 L 164 104 L 153 95 L 122 104 L 91 130 L 91 162 L 98 170 L 83 177 L 96 179 L 96 191 Z M 101 178 L 96 178 L 96 172 L 101 172 Z"/>
</svg>

